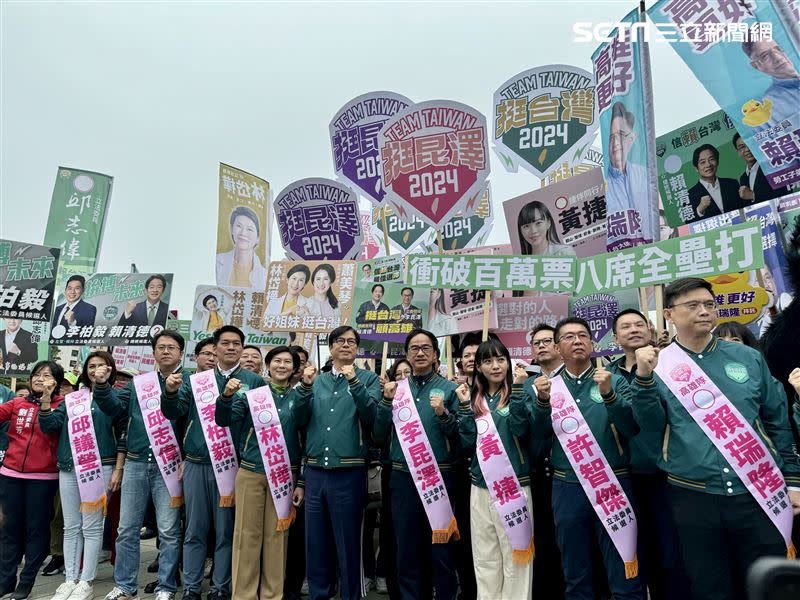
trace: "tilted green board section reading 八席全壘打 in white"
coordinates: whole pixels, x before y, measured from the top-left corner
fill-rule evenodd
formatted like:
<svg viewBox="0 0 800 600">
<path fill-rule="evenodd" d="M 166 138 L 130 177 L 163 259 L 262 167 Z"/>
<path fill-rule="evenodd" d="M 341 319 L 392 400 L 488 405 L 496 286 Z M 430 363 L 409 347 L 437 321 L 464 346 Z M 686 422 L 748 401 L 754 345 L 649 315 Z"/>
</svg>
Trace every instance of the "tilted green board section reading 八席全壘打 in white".
<svg viewBox="0 0 800 600">
<path fill-rule="evenodd" d="M 751 271 L 763 265 L 761 226 L 743 223 L 581 258 L 573 289 L 577 295 L 585 296 L 667 284 L 682 277 Z"/>
</svg>

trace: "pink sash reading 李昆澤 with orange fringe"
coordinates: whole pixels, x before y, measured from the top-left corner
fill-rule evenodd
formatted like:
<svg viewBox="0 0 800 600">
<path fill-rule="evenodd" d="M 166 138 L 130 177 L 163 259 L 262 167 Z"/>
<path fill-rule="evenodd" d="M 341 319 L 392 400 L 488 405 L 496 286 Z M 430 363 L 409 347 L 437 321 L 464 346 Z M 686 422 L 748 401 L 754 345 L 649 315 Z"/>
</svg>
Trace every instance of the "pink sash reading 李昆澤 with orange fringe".
<svg viewBox="0 0 800 600">
<path fill-rule="evenodd" d="M 419 418 L 407 379 L 397 384 L 397 393 L 392 402 L 392 422 L 417 494 L 428 516 L 433 543 L 446 544 L 451 537 L 460 539 L 447 488 L 439 471 L 439 464 L 433 456 L 428 434 Z"/>
</svg>

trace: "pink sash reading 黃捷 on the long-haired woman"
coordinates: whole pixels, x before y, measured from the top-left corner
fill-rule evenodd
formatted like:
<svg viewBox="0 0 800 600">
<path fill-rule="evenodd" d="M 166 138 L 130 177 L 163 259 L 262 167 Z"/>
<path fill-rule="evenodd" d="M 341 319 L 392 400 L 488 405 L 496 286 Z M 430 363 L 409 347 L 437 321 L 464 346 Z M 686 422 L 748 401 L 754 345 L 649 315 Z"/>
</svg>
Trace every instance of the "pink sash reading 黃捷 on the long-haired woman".
<svg viewBox="0 0 800 600">
<path fill-rule="evenodd" d="M 500 514 L 503 529 L 511 543 L 512 561 L 527 564 L 533 560 L 534 551 L 533 522 L 525 493 L 519 485 L 491 413 L 476 416 L 475 426 L 478 430 L 475 456 L 492 504 Z"/>
</svg>

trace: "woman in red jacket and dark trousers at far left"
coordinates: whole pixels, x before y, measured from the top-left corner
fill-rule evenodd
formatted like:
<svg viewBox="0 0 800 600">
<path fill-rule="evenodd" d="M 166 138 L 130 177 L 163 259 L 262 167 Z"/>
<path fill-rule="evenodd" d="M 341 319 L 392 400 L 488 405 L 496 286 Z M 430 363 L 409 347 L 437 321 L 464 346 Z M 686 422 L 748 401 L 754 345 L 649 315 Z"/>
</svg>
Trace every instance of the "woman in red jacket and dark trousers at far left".
<svg viewBox="0 0 800 600">
<path fill-rule="evenodd" d="M 41 361 L 31 369 L 31 394 L 0 404 L 0 423 L 8 423 L 8 450 L 0 467 L 0 597 L 27 598 L 47 558 L 53 500 L 58 489 L 58 435 L 39 426 L 39 411 L 58 407 L 64 369 Z M 17 583 L 17 569 L 25 567 Z M 15 589 L 16 586 L 16 589 Z"/>
</svg>

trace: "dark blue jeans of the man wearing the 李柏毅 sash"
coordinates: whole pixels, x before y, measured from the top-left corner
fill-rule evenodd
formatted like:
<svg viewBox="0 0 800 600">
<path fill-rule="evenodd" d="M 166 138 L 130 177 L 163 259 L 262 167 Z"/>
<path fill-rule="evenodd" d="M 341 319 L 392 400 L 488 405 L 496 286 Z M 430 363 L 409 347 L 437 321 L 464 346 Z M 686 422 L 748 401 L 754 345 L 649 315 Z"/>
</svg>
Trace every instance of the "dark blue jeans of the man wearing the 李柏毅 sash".
<svg viewBox="0 0 800 600">
<path fill-rule="evenodd" d="M 200 593 L 206 566 L 208 531 L 214 524 L 214 572 L 211 590 L 226 596 L 231 591 L 231 543 L 233 507 L 221 508 L 214 468 L 186 462 L 183 472 L 183 495 L 186 498 L 186 539 L 183 542 L 183 589 Z M 163 546 L 162 546 L 163 548 Z"/>
</svg>

